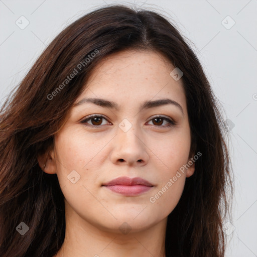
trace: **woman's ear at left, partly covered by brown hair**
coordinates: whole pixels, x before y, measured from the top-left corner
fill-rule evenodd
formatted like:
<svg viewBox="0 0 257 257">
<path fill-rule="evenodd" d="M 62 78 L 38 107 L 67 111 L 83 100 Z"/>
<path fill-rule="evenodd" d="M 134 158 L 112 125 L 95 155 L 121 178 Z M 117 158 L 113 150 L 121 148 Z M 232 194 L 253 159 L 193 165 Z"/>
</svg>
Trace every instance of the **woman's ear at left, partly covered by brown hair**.
<svg viewBox="0 0 257 257">
<path fill-rule="evenodd" d="M 54 149 L 46 151 L 46 153 L 38 155 L 38 163 L 42 171 L 48 174 L 56 174 L 56 162 Z"/>
</svg>

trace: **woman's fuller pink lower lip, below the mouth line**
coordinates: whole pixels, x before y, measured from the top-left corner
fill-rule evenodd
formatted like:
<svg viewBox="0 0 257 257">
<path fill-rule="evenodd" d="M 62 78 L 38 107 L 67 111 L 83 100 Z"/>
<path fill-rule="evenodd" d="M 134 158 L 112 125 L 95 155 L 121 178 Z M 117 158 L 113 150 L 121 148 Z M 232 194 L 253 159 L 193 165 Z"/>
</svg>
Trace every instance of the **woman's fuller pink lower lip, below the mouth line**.
<svg viewBox="0 0 257 257">
<path fill-rule="evenodd" d="M 110 189 L 113 192 L 127 195 L 127 196 L 133 196 L 133 195 L 139 195 L 141 193 L 149 191 L 152 187 L 144 186 L 144 185 L 111 185 L 111 186 L 105 186 L 106 188 Z"/>
</svg>

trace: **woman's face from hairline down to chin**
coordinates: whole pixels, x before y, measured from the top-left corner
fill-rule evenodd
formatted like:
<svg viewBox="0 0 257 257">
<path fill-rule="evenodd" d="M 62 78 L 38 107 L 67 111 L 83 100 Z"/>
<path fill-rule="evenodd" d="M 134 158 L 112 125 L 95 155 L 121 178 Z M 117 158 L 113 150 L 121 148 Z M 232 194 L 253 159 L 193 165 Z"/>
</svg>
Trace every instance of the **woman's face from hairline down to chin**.
<svg viewBox="0 0 257 257">
<path fill-rule="evenodd" d="M 44 171 L 57 174 L 66 208 L 85 222 L 112 232 L 126 222 L 138 231 L 177 205 L 194 165 L 181 172 L 191 160 L 191 138 L 182 81 L 173 79 L 173 69 L 160 53 L 109 56 L 55 135 Z M 123 176 L 152 186 L 103 186 Z"/>
</svg>

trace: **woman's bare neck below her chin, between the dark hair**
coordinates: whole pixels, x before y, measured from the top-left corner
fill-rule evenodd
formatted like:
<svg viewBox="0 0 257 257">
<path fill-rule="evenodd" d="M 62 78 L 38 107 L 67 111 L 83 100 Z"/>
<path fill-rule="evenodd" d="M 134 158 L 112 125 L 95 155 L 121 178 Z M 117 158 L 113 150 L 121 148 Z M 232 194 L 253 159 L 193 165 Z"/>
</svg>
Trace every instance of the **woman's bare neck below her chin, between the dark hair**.
<svg viewBox="0 0 257 257">
<path fill-rule="evenodd" d="M 65 239 L 55 257 L 165 257 L 167 218 L 149 228 L 134 231 L 99 227 L 81 218 L 65 202 Z M 70 207 L 70 206 L 69 206 Z"/>
</svg>

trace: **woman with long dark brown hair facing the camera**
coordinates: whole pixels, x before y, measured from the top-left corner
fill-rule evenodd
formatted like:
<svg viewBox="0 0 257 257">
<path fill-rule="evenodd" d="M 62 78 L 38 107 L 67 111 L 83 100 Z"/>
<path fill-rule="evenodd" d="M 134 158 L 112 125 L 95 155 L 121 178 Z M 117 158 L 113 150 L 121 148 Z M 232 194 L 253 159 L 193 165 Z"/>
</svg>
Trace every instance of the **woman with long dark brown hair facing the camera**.
<svg viewBox="0 0 257 257">
<path fill-rule="evenodd" d="M 166 18 L 83 16 L 1 117 L 1 256 L 224 256 L 226 129 Z"/>
</svg>

